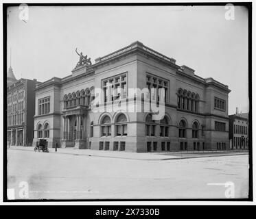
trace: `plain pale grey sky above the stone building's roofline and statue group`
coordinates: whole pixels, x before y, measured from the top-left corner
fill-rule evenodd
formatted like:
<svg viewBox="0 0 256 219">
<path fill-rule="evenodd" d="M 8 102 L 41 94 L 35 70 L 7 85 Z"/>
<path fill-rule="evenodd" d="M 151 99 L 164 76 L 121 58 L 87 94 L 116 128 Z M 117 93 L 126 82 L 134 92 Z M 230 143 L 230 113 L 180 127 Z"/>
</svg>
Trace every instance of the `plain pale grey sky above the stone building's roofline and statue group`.
<svg viewBox="0 0 256 219">
<path fill-rule="evenodd" d="M 7 54 L 16 79 L 66 77 L 78 52 L 95 58 L 139 40 L 195 74 L 229 86 L 229 114 L 248 112 L 248 11 L 235 6 L 75 6 L 8 8 Z M 12 53 L 10 54 L 10 50 Z"/>
</svg>

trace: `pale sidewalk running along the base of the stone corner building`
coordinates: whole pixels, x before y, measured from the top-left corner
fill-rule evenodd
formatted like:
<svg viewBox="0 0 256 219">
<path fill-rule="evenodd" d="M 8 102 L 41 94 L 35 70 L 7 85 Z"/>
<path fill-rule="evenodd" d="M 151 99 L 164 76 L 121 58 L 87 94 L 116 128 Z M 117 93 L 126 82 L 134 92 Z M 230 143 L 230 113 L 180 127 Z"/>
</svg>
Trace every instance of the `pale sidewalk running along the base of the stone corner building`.
<svg viewBox="0 0 256 219">
<path fill-rule="evenodd" d="M 8 150 L 21 150 L 34 152 L 33 146 L 10 146 Z M 178 152 L 152 152 L 152 153 L 132 153 L 125 151 L 96 151 L 90 149 L 73 149 L 73 148 L 58 148 L 55 152 L 54 148 L 49 148 L 49 153 L 67 154 L 67 155 L 84 155 L 94 157 L 108 157 L 119 159 L 137 159 L 137 160 L 168 160 L 168 159 L 188 159 L 200 157 L 222 157 L 234 155 L 248 155 L 248 151 L 181 151 Z"/>
</svg>

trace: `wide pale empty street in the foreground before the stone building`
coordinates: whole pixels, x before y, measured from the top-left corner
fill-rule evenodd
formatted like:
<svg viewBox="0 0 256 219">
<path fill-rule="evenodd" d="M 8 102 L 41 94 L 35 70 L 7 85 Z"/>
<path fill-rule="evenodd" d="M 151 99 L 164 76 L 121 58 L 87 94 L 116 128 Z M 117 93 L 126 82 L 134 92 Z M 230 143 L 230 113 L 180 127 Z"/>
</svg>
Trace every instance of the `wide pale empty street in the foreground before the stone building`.
<svg viewBox="0 0 256 219">
<path fill-rule="evenodd" d="M 207 184 L 226 182 L 234 183 L 235 198 L 248 193 L 248 155 L 148 160 L 124 152 L 106 151 L 103 157 L 104 151 L 97 156 L 97 151 L 50 150 L 8 149 L 8 188 L 14 188 L 15 198 L 22 181 L 32 199 L 225 198 L 224 185 Z"/>
</svg>

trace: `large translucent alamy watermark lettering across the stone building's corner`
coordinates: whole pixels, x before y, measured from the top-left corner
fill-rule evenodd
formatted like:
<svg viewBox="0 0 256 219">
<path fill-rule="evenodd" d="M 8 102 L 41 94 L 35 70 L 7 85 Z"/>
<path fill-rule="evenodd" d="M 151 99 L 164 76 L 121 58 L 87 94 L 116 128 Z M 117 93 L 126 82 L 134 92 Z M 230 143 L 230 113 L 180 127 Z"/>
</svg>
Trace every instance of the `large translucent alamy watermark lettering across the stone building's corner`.
<svg viewBox="0 0 256 219">
<path fill-rule="evenodd" d="M 95 99 L 91 102 L 91 110 L 97 112 L 150 112 L 153 120 L 161 120 L 165 116 L 164 88 L 95 88 Z"/>
</svg>

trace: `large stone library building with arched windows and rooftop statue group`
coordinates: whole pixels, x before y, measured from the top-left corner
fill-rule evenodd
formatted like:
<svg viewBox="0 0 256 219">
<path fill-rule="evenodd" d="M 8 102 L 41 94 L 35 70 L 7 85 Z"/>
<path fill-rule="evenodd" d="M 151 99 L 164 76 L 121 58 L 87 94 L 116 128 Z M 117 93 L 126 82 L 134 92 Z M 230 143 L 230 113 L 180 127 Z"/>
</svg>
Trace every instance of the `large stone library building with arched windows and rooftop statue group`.
<svg viewBox="0 0 256 219">
<path fill-rule="evenodd" d="M 98 57 L 82 53 L 71 75 L 53 77 L 35 88 L 34 140 L 75 149 L 150 152 L 229 149 L 229 87 L 202 78 L 192 68 L 141 42 Z M 109 88 L 108 88 L 109 87 Z M 149 110 L 93 110 L 109 103 L 130 104 L 130 88 L 164 90 L 164 115 Z M 153 89 L 154 88 L 154 89 Z M 106 90 L 113 89 L 110 96 Z M 152 98 L 152 92 L 150 98 Z M 132 101 L 131 101 L 132 100 Z"/>
</svg>

